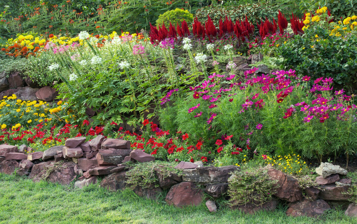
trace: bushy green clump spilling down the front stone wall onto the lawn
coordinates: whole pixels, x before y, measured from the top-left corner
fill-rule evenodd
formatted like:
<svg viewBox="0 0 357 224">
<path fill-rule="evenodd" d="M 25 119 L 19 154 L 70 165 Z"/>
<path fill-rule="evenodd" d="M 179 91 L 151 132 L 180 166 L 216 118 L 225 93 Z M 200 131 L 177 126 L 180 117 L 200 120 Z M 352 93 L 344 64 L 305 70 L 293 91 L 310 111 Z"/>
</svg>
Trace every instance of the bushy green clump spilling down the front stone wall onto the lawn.
<svg viewBox="0 0 357 224">
<path fill-rule="evenodd" d="M 277 181 L 270 180 L 262 167 L 238 170 L 228 179 L 228 194 L 232 205 L 252 203 L 262 205 L 272 200 Z"/>
</svg>

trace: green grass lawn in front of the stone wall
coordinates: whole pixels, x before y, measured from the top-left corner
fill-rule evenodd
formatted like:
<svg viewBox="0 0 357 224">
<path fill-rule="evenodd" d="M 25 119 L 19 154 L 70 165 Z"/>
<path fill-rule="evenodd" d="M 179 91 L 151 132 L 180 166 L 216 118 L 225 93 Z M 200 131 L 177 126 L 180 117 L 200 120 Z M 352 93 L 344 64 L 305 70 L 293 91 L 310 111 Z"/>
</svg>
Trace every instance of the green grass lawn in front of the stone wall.
<svg viewBox="0 0 357 224">
<path fill-rule="evenodd" d="M 111 192 L 98 184 L 74 189 L 44 181 L 0 174 L 0 223 L 356 223 L 342 210 L 320 218 L 288 217 L 286 207 L 248 215 L 220 203 L 218 212 L 198 207 L 176 208 L 139 198 L 130 190 Z"/>
</svg>

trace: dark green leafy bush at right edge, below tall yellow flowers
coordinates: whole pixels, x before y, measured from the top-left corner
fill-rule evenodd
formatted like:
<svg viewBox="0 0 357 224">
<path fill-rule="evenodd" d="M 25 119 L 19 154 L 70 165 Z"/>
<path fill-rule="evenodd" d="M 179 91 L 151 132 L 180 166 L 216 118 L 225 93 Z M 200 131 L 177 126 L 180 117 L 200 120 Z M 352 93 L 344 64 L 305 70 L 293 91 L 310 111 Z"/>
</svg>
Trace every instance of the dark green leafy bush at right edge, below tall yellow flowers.
<svg viewBox="0 0 357 224">
<path fill-rule="evenodd" d="M 319 38 L 315 36 L 318 35 Z M 318 41 L 319 39 L 319 41 Z M 278 54 L 284 58 L 285 68 L 293 68 L 301 75 L 312 78 L 333 77 L 338 85 L 356 90 L 357 37 L 331 35 L 324 27 L 308 29 L 302 36 L 295 36 Z"/>
</svg>

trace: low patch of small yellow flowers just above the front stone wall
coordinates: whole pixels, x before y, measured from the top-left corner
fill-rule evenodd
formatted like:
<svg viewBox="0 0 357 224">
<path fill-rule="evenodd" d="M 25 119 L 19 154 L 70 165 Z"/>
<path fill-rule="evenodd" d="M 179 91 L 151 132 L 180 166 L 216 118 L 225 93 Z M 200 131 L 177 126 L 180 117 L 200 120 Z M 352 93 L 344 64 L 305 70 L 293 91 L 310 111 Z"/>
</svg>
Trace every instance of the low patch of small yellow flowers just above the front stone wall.
<svg viewBox="0 0 357 224">
<path fill-rule="evenodd" d="M 309 167 L 307 166 L 306 162 L 303 161 L 300 155 L 287 155 L 287 156 L 267 156 L 265 160 L 266 164 L 271 164 L 278 170 L 281 170 L 287 174 L 297 174 L 297 175 L 304 175 L 309 172 Z"/>
</svg>

